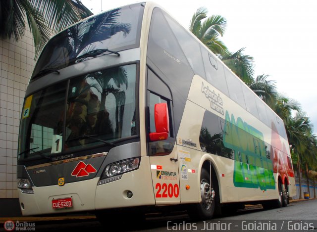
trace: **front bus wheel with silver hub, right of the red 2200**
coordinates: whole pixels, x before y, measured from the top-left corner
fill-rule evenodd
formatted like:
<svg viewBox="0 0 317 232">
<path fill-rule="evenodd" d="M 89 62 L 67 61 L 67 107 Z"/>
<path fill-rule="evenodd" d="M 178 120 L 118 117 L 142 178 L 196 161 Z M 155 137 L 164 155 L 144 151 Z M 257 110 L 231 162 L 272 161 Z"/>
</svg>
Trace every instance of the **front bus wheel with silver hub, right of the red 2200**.
<svg viewBox="0 0 317 232">
<path fill-rule="evenodd" d="M 189 207 L 188 214 L 191 219 L 204 220 L 212 218 L 215 211 L 216 202 L 219 201 L 219 191 L 214 180 L 212 180 L 211 184 L 213 186 L 210 186 L 209 172 L 206 169 L 202 169 L 200 174 L 202 202 L 193 204 Z M 210 188 L 212 189 L 211 191 Z"/>
</svg>

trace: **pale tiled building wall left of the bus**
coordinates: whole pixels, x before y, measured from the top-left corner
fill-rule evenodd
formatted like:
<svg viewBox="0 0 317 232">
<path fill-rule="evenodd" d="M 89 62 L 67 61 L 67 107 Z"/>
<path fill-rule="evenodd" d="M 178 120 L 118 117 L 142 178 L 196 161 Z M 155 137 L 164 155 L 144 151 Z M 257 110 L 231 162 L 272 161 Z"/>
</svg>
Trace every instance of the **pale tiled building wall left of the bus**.
<svg viewBox="0 0 317 232">
<path fill-rule="evenodd" d="M 27 27 L 18 42 L 0 40 L 0 198 L 16 198 L 16 162 L 23 98 L 34 68 L 34 41 Z"/>
</svg>

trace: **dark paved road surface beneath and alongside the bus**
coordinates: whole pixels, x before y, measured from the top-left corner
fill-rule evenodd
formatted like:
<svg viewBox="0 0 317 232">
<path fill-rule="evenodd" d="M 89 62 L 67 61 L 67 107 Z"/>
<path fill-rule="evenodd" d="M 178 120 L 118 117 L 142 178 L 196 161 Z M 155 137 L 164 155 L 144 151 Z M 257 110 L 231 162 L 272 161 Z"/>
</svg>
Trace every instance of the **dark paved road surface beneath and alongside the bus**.
<svg viewBox="0 0 317 232">
<path fill-rule="evenodd" d="M 117 222 L 103 226 L 94 216 L 76 216 L 64 220 L 36 221 L 25 225 L 19 221 L 20 227 L 35 228 L 35 231 L 309 231 L 317 232 L 317 200 L 293 202 L 287 207 L 263 210 L 261 207 L 250 207 L 248 210 L 215 218 L 210 221 L 193 222 L 186 214 L 168 217 L 147 218 L 143 225 L 134 223 L 124 225 L 122 218 Z M 1 219 L 0 219 L 1 220 Z M 3 220 L 3 219 L 2 219 Z M 2 222 L 2 220 L 0 222 Z M 16 222 L 16 219 L 12 219 Z M 121 221 L 121 223 L 119 222 Z M 34 223 L 34 224 L 33 224 Z M 219 230 L 216 230 L 219 229 Z M 223 230 L 221 230 L 223 229 Z M 30 231 L 30 229 L 27 229 Z M 0 231 L 4 231 L 0 226 Z"/>
</svg>

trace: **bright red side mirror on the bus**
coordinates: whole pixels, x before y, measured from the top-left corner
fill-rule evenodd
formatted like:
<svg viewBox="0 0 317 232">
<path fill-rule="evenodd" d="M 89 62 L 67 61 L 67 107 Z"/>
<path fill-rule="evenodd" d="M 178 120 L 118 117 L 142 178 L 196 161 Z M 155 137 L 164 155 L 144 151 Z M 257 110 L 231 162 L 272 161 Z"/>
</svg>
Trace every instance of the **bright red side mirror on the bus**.
<svg viewBox="0 0 317 232">
<path fill-rule="evenodd" d="M 166 103 L 157 103 L 154 106 L 156 132 L 150 133 L 151 141 L 165 140 L 169 133 L 169 116 Z"/>
</svg>

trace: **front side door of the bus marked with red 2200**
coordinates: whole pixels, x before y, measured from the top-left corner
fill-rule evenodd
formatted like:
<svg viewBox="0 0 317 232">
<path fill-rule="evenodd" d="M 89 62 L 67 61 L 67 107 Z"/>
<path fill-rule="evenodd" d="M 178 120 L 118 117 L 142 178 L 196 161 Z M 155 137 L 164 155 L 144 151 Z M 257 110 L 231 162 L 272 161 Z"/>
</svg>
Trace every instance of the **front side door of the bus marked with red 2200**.
<svg viewBox="0 0 317 232">
<path fill-rule="evenodd" d="M 151 70 L 148 70 L 147 99 L 147 144 L 156 204 L 178 204 L 180 189 L 173 102 L 168 87 Z M 165 125 L 158 125 L 162 121 Z M 166 127 L 168 130 L 165 131 Z"/>
</svg>

